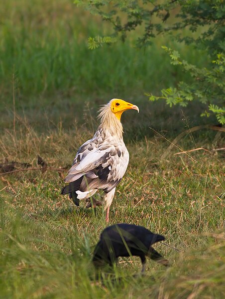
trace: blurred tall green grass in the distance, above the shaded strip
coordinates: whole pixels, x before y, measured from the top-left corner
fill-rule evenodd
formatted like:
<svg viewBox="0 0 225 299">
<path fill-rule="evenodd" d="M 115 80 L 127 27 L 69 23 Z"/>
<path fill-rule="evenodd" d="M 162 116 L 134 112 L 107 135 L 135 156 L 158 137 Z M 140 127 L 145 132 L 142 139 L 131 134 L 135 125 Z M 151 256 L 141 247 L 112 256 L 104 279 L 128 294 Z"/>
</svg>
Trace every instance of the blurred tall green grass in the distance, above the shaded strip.
<svg viewBox="0 0 225 299">
<path fill-rule="evenodd" d="M 59 92 L 80 98 L 101 94 L 143 97 L 144 92 L 159 93 L 187 79 L 170 65 L 161 49 L 170 41 L 162 36 L 145 49 L 135 48 L 128 40 L 88 50 L 88 37 L 109 32 L 110 27 L 69 0 L 8 0 L 0 4 L 0 18 L 0 97 L 4 103 L 11 96 L 13 76 L 23 103 Z M 190 61 L 206 61 L 194 49 L 187 52 L 182 45 L 173 46 L 180 47 Z"/>
</svg>

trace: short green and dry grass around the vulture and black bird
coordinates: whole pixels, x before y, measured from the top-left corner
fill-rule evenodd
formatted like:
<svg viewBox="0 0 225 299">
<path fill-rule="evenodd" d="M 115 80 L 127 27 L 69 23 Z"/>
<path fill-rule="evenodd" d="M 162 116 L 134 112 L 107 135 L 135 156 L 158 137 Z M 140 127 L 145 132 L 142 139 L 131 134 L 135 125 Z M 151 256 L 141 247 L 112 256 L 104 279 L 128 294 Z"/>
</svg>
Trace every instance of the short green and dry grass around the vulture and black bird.
<svg viewBox="0 0 225 299">
<path fill-rule="evenodd" d="M 36 167 L 39 154 L 50 166 L 69 168 L 77 147 L 92 133 L 83 127 L 38 135 L 21 128 L 15 138 L 9 133 L 1 137 L 0 160 Z M 196 146 L 211 150 L 212 143 L 202 139 Z M 134 279 L 139 260 L 121 259 L 111 276 L 96 281 L 91 254 L 106 227 L 102 208 L 97 215 L 76 209 L 60 195 L 63 180 L 57 172 L 18 172 L 0 177 L 1 298 L 222 299 L 223 156 L 197 151 L 191 159 L 174 155 L 173 149 L 161 160 L 168 145 L 157 135 L 127 144 L 130 163 L 110 216 L 111 224 L 134 223 L 165 235 L 181 252 L 161 244 L 155 248 L 172 267 L 165 270 L 149 261 L 146 276 Z M 187 150 L 195 144 L 186 138 L 178 146 Z"/>
</svg>

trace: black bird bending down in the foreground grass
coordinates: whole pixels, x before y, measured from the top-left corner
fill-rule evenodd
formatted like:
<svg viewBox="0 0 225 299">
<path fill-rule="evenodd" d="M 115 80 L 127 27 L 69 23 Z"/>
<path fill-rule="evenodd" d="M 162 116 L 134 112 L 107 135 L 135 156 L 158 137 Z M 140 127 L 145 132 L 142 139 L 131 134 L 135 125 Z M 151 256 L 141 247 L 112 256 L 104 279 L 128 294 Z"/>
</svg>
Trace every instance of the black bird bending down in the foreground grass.
<svg viewBox="0 0 225 299">
<path fill-rule="evenodd" d="M 169 266 L 164 259 L 151 246 L 165 237 L 153 234 L 146 228 L 134 224 L 115 224 L 106 228 L 96 245 L 93 256 L 93 264 L 96 268 L 116 263 L 118 257 L 138 256 L 141 259 L 144 272 L 146 256 L 164 266 Z"/>
</svg>

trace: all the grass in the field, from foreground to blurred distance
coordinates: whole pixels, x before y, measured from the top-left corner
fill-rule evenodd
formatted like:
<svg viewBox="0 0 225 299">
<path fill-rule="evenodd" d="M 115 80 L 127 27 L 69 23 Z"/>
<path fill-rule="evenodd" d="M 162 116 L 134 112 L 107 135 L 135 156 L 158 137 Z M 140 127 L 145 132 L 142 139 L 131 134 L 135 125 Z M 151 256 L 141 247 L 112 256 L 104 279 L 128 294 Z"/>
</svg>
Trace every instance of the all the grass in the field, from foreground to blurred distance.
<svg viewBox="0 0 225 299">
<path fill-rule="evenodd" d="M 169 269 L 148 261 L 146 275 L 134 278 L 139 259 L 120 259 L 100 281 L 91 256 L 106 227 L 103 209 L 77 209 L 60 195 L 66 170 L 0 173 L 0 298 L 224 298 L 224 154 L 213 151 L 223 135 L 189 134 L 161 159 L 166 139 L 203 122 L 201 107 L 181 112 L 143 95 L 189 80 L 161 45 L 199 65 L 207 64 L 204 52 L 164 37 L 145 50 L 130 46 L 131 38 L 89 51 L 87 38 L 110 27 L 68 0 L 7 0 L 0 19 L 0 163 L 37 167 L 40 155 L 69 169 L 97 127 L 97 107 L 129 100 L 140 114 L 122 117 L 130 162 L 111 223 L 143 225 L 180 250 L 156 244 Z M 174 155 L 198 147 L 208 152 Z"/>
</svg>

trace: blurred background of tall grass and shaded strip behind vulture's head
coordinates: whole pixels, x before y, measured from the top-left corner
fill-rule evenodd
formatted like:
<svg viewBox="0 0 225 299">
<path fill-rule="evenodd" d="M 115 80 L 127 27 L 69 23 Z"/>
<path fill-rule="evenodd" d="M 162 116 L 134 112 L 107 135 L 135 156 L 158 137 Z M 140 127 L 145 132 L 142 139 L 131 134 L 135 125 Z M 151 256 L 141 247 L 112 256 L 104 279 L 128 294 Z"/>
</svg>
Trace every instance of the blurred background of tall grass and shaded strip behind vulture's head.
<svg viewBox="0 0 225 299">
<path fill-rule="evenodd" d="M 18 117 L 25 116 L 38 131 L 59 122 L 64 128 L 87 123 L 99 105 L 115 97 L 140 106 L 138 117 L 124 115 L 123 122 L 125 130 L 140 128 L 141 136 L 151 134 L 149 127 L 177 134 L 185 129 L 184 118 L 190 126 L 210 123 L 199 117 L 199 103 L 182 108 L 184 117 L 180 107 L 152 103 L 144 95 L 160 95 L 162 88 L 190 79 L 170 64 L 162 45 L 207 66 L 207 55 L 193 47 L 160 35 L 152 46 L 139 49 L 134 45 L 137 30 L 124 43 L 89 50 L 89 36 L 109 34 L 112 28 L 70 0 L 1 1 L 0 20 L 1 130 L 13 125 L 13 100 Z"/>
</svg>

